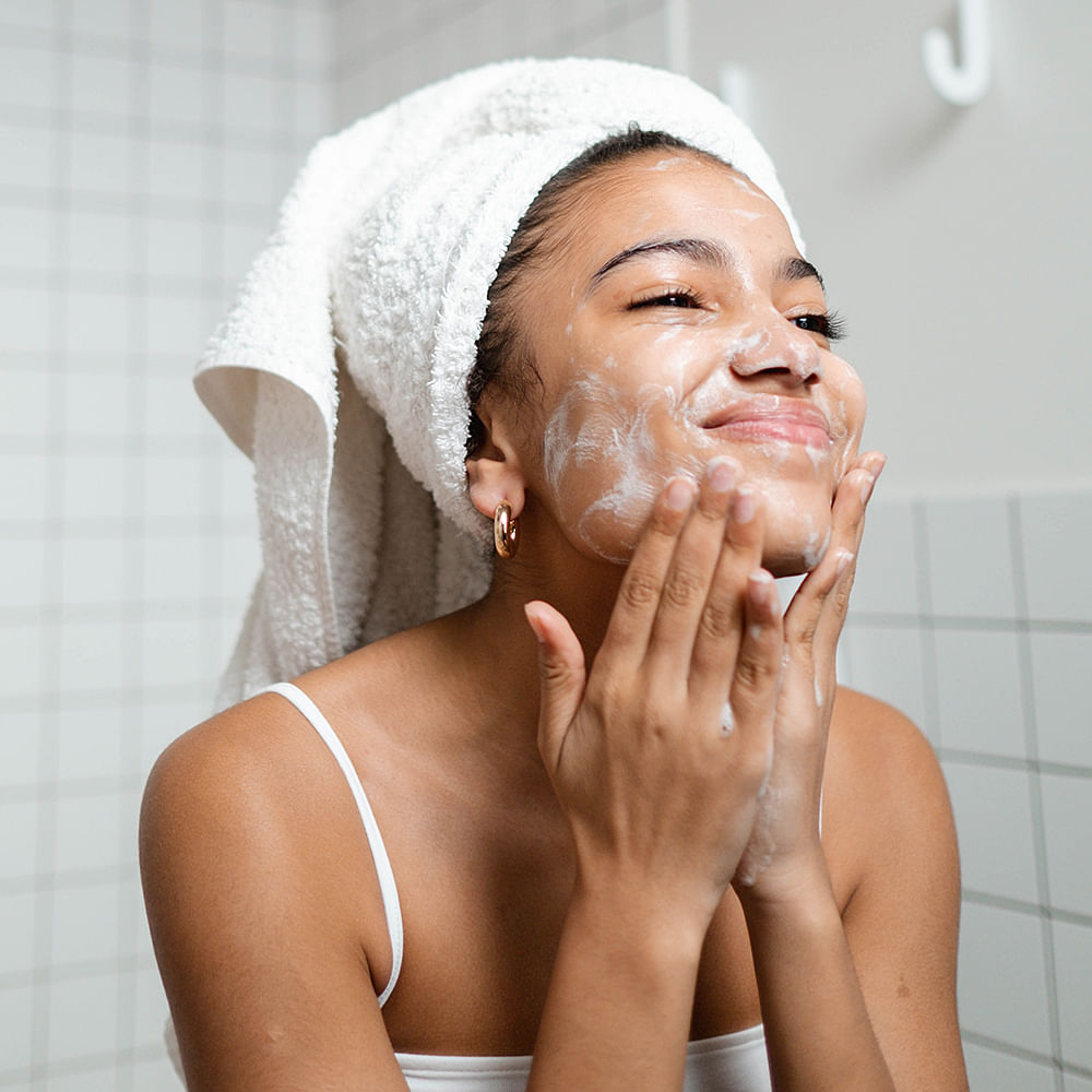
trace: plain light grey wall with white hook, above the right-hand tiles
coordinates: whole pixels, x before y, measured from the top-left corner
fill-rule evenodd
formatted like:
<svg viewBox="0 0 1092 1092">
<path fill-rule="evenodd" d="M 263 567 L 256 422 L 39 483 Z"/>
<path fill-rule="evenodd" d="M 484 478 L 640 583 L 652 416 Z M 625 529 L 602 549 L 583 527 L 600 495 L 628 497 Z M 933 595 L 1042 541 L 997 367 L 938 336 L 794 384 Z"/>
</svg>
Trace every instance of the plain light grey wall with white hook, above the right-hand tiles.
<svg viewBox="0 0 1092 1092">
<path fill-rule="evenodd" d="M 751 81 L 810 256 L 850 324 L 888 495 L 1092 482 L 1084 0 L 992 0 L 994 80 L 962 109 L 923 32 L 956 0 L 691 0 L 695 74 Z"/>
</svg>

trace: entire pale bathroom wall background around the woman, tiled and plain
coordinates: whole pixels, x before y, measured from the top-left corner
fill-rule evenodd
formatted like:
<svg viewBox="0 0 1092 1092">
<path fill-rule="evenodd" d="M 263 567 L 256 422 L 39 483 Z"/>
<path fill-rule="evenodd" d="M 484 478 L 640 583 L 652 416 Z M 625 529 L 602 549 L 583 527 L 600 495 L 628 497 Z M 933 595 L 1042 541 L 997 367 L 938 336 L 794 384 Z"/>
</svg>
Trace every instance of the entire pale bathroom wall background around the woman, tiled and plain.
<svg viewBox="0 0 1092 1092">
<path fill-rule="evenodd" d="M 843 676 L 938 748 L 972 1087 L 1092 1092 L 1092 4 L 0 0 L 0 1090 L 168 1090 L 135 859 L 258 553 L 190 389 L 310 144 L 527 55 L 728 86 L 779 164 L 891 456 Z M 725 76 L 725 66 L 732 66 Z"/>
</svg>

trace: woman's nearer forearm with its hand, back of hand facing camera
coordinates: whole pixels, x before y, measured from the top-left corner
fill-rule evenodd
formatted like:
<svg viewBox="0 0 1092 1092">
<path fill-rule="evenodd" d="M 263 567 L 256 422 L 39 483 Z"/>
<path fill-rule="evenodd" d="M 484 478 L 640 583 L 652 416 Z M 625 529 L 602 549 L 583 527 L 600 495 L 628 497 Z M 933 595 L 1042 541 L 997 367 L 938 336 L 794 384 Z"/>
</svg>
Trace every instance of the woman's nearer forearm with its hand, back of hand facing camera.
<svg viewBox="0 0 1092 1092">
<path fill-rule="evenodd" d="M 577 858 L 533 1092 L 682 1083 L 702 941 L 769 772 L 781 670 L 761 505 L 717 474 L 678 507 L 668 485 L 586 679 L 565 619 L 527 609 L 539 747 Z"/>
</svg>

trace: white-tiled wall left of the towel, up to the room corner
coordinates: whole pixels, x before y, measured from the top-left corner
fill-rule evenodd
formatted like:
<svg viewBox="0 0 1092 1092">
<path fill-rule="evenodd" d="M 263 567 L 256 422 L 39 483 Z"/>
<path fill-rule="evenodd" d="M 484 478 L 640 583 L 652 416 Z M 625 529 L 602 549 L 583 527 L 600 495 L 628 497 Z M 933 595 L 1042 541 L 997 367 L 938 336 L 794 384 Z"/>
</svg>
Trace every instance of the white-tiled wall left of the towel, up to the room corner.
<svg viewBox="0 0 1092 1092">
<path fill-rule="evenodd" d="M 136 809 L 256 569 L 189 377 L 329 127 L 332 14 L 0 2 L 0 1089 L 177 1087 Z"/>
</svg>

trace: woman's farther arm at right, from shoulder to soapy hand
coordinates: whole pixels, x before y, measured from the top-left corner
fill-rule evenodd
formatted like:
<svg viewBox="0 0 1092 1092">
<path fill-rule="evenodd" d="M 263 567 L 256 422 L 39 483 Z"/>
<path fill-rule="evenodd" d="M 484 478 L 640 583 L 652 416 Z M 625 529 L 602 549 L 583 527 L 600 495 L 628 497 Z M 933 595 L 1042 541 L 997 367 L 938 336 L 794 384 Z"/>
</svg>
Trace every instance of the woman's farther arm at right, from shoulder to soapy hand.
<svg viewBox="0 0 1092 1092">
<path fill-rule="evenodd" d="M 843 692 L 826 779 L 828 834 L 833 819 L 836 859 L 843 871 L 853 862 L 856 877 L 844 913 L 819 841 L 834 651 L 870 483 L 860 486 L 856 476 L 844 479 L 827 556 L 786 612 L 774 767 L 734 885 L 779 1092 L 954 1092 L 966 1082 L 947 795 L 916 729 L 859 696 Z"/>
</svg>

